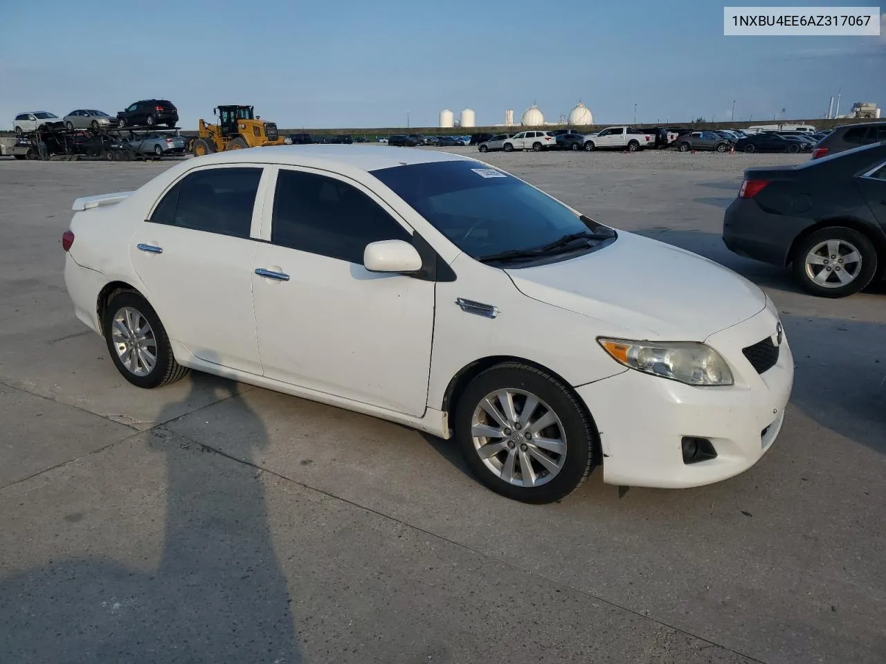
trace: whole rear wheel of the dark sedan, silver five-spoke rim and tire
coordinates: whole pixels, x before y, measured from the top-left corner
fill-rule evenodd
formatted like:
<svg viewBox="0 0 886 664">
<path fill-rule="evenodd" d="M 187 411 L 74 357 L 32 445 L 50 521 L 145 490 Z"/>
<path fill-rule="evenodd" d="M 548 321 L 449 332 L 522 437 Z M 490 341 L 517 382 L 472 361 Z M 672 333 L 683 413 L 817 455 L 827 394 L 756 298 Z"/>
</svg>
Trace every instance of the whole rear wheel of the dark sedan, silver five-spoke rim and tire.
<svg viewBox="0 0 886 664">
<path fill-rule="evenodd" d="M 862 290 L 877 272 L 874 244 L 853 228 L 822 228 L 797 244 L 794 274 L 820 297 L 846 297 Z"/>
</svg>

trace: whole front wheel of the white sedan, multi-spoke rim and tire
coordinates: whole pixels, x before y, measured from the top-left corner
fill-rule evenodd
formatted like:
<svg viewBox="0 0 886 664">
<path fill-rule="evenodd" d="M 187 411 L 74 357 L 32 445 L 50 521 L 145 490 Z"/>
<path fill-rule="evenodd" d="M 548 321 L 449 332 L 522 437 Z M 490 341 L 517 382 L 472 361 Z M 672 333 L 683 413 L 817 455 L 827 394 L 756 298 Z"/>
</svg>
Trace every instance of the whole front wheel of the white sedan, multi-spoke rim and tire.
<svg viewBox="0 0 886 664">
<path fill-rule="evenodd" d="M 578 398 L 537 367 L 506 362 L 469 383 L 455 439 L 481 483 L 507 498 L 551 503 L 585 481 L 597 434 Z"/>
</svg>

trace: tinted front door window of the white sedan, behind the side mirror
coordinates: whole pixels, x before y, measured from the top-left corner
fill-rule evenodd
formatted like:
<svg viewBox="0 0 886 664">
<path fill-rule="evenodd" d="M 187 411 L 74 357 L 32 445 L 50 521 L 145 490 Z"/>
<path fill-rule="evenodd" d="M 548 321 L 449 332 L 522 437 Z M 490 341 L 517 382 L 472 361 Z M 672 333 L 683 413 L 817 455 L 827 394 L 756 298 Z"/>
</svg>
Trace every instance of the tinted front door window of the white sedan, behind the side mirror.
<svg viewBox="0 0 886 664">
<path fill-rule="evenodd" d="M 411 239 L 388 212 L 346 182 L 300 171 L 277 174 L 271 243 L 362 265 L 367 244 Z"/>
</svg>

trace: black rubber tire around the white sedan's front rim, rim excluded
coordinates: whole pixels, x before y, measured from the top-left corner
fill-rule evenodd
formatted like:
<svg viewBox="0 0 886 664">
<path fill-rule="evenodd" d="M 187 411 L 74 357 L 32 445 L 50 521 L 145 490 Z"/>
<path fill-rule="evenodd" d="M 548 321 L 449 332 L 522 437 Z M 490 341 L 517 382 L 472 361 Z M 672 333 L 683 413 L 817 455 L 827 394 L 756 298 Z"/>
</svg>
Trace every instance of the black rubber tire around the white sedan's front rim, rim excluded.
<svg viewBox="0 0 886 664">
<path fill-rule="evenodd" d="M 502 480 L 486 467 L 474 447 L 471 421 L 475 409 L 486 395 L 506 389 L 525 390 L 536 395 L 550 406 L 563 425 L 561 433 L 566 440 L 563 467 L 540 486 L 524 487 Z M 534 504 L 562 500 L 578 489 L 594 467 L 594 452 L 599 444 L 593 423 L 569 387 L 536 367 L 518 362 L 505 362 L 486 369 L 459 395 L 455 407 L 455 440 L 462 449 L 465 462 L 481 483 L 506 498 Z"/>
</svg>

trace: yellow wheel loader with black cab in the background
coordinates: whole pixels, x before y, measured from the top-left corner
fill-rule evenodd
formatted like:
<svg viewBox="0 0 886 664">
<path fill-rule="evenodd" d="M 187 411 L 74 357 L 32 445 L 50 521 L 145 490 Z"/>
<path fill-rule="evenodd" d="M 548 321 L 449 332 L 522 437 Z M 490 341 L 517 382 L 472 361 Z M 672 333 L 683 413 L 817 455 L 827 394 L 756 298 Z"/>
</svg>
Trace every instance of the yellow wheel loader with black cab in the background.
<svg viewBox="0 0 886 664">
<path fill-rule="evenodd" d="M 200 131 L 194 141 L 194 155 L 202 157 L 212 152 L 242 150 L 266 145 L 283 145 L 276 123 L 255 117 L 254 106 L 218 106 L 213 109 L 218 124 L 200 119 Z"/>
</svg>

